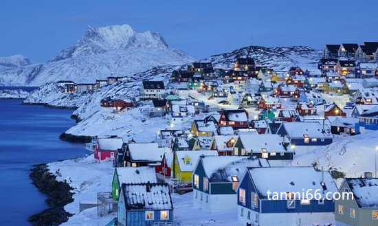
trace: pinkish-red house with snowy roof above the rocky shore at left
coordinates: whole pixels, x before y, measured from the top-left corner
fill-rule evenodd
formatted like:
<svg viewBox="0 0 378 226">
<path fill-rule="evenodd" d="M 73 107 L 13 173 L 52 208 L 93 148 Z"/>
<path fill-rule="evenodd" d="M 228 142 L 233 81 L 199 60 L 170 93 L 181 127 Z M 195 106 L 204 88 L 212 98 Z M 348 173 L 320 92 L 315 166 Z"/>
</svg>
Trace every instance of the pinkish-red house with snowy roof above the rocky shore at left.
<svg viewBox="0 0 378 226">
<path fill-rule="evenodd" d="M 97 160 L 114 160 L 117 150 L 122 149 L 123 139 L 120 137 L 98 138 L 94 157 Z"/>
</svg>

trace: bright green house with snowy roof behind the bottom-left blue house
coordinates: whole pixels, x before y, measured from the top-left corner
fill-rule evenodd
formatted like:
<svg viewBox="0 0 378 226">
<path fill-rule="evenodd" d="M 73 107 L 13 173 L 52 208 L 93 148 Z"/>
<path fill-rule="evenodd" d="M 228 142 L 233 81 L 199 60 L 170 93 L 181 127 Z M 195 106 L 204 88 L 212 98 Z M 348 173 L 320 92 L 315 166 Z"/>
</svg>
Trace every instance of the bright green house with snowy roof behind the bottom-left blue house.
<svg viewBox="0 0 378 226">
<path fill-rule="evenodd" d="M 122 183 L 157 183 L 155 168 L 152 166 L 115 168 L 111 182 L 111 196 L 118 200 Z"/>
</svg>

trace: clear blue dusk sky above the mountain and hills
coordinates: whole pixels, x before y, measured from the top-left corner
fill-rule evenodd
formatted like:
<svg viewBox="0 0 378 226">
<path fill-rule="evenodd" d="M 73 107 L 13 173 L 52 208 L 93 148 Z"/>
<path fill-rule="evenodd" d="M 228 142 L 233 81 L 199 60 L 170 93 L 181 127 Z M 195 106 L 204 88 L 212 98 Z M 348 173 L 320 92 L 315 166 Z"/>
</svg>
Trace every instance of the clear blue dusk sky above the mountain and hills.
<svg viewBox="0 0 378 226">
<path fill-rule="evenodd" d="M 378 41 L 377 0 L 2 0 L 0 56 L 43 63 L 88 26 L 129 24 L 162 34 L 194 58 L 247 45 L 267 47 Z"/>
</svg>

